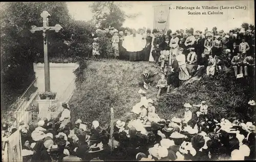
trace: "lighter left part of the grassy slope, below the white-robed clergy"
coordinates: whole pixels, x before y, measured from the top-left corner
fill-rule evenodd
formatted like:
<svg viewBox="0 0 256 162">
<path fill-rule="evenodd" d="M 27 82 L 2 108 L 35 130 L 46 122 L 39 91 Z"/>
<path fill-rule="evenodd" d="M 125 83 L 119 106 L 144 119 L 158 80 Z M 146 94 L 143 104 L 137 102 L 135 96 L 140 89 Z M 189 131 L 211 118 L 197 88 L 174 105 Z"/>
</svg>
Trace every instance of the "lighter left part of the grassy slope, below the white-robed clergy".
<svg viewBox="0 0 256 162">
<path fill-rule="evenodd" d="M 87 122 L 99 120 L 104 126 L 110 123 L 110 103 L 114 108 L 116 119 L 132 110 L 132 107 L 140 101 L 137 93 L 138 82 L 145 68 L 152 73 L 160 71 L 158 66 L 150 62 L 89 61 L 84 74 L 87 79 L 70 100 L 71 106 L 79 109 L 73 111 L 73 120 L 79 118 Z M 157 82 L 160 76 L 155 78 Z M 154 99 L 156 94 L 156 87 L 147 90 L 147 98 Z"/>
</svg>

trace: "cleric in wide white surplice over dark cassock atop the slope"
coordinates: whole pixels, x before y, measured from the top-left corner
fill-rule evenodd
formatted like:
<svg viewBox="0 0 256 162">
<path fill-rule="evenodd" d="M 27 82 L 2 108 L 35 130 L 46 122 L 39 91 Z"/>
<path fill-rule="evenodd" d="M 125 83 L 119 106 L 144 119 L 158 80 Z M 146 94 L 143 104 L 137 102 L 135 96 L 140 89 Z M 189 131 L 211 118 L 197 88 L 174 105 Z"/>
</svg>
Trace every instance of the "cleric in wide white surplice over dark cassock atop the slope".
<svg viewBox="0 0 256 162">
<path fill-rule="evenodd" d="M 133 29 L 133 35 L 126 36 L 123 41 L 123 47 L 126 49 L 126 54 L 130 61 L 139 61 L 142 50 L 145 47 L 146 40 L 142 39 L 140 34 Z"/>
</svg>

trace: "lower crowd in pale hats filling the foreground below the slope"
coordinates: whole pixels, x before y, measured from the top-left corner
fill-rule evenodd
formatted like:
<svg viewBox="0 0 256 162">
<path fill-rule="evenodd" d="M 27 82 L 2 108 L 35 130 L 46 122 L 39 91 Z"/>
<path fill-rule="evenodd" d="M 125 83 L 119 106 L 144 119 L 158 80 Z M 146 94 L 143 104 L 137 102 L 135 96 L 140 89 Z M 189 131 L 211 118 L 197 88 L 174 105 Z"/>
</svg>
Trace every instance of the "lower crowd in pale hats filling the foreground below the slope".
<svg viewBox="0 0 256 162">
<path fill-rule="evenodd" d="M 8 134 L 20 131 L 23 161 L 162 161 L 255 159 L 255 122 L 207 118 L 207 103 L 184 104 L 184 118 L 159 118 L 154 101 L 138 91 L 141 100 L 132 109 L 132 120 L 102 129 L 98 121 L 70 121 L 70 106 L 57 118 L 37 126 L 22 122 L 17 128 L 2 125 L 2 144 Z M 255 108 L 253 100 L 248 106 Z M 198 120 L 193 122 L 191 108 Z M 3 145 L 2 145 L 3 146 Z M 111 146 L 113 151 L 111 151 Z"/>
</svg>

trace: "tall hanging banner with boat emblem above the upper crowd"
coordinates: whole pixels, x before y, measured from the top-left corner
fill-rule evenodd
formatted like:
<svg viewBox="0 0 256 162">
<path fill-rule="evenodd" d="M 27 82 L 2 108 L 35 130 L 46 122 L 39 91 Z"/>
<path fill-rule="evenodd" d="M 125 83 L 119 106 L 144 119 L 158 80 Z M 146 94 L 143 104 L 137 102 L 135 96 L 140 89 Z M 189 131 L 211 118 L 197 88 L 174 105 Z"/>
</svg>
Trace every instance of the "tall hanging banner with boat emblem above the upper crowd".
<svg viewBox="0 0 256 162">
<path fill-rule="evenodd" d="M 169 29 L 169 5 L 154 6 L 154 29 Z"/>
</svg>

